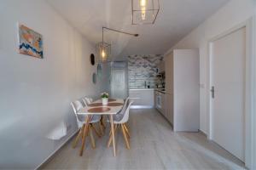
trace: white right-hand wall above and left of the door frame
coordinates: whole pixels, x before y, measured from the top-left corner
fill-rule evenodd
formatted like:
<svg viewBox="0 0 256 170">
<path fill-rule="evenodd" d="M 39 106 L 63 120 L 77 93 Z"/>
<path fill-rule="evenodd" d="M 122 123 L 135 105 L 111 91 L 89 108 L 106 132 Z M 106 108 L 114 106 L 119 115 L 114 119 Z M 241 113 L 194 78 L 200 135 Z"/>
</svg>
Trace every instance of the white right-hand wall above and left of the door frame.
<svg viewBox="0 0 256 170">
<path fill-rule="evenodd" d="M 241 24 L 253 16 L 255 0 L 230 0 L 204 23 L 191 31 L 188 36 L 172 48 L 200 48 L 201 62 L 201 131 L 208 133 L 207 124 L 207 41 L 220 33 Z"/>
</svg>

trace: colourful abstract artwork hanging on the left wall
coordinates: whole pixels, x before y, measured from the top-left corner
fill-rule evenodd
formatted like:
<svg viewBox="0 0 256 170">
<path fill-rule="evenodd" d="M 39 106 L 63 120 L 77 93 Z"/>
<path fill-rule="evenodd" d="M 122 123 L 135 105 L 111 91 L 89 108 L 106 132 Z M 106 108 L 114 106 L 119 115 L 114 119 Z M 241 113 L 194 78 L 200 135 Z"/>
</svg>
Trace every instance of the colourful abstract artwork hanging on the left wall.
<svg viewBox="0 0 256 170">
<path fill-rule="evenodd" d="M 44 58 L 43 54 L 43 37 L 36 31 L 19 25 L 19 53 L 31 55 L 39 59 Z"/>
</svg>

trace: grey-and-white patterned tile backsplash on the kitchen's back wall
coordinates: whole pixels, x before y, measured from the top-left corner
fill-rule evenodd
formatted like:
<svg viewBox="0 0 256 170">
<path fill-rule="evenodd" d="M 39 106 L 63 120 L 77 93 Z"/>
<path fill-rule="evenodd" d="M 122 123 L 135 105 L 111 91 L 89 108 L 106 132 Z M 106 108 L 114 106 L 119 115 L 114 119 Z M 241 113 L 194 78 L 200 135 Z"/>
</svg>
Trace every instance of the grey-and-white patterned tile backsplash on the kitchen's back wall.
<svg viewBox="0 0 256 170">
<path fill-rule="evenodd" d="M 131 55 L 128 57 L 129 88 L 155 88 L 156 69 L 163 55 Z"/>
</svg>

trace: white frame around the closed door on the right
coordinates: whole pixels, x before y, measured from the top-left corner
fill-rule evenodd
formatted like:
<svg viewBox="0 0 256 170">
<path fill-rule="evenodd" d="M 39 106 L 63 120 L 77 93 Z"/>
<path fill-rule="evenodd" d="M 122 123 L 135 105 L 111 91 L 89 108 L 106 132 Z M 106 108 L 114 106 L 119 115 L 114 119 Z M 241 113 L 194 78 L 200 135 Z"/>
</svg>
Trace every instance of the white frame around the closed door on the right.
<svg viewBox="0 0 256 170">
<path fill-rule="evenodd" d="M 221 37 L 225 37 L 234 31 L 238 31 L 241 28 L 246 28 L 246 60 L 245 60 L 245 166 L 253 167 L 253 94 L 255 94 L 255 90 L 253 91 L 253 71 L 255 65 L 253 64 L 255 54 L 253 52 L 253 35 L 254 35 L 254 17 L 246 20 L 238 26 L 234 26 L 228 31 L 224 31 L 216 37 L 212 37 L 208 40 L 208 59 L 207 59 L 207 124 L 208 124 L 208 135 L 207 138 L 212 140 L 212 105 L 211 105 L 211 65 L 212 65 L 212 42 L 218 40 Z"/>
</svg>

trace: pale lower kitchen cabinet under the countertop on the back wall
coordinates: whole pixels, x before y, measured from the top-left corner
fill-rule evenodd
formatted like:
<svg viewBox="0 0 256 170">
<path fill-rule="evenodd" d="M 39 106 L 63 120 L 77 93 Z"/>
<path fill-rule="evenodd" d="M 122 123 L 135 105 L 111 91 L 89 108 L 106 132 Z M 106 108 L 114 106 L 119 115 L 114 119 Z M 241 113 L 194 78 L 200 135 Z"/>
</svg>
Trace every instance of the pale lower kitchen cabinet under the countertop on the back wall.
<svg viewBox="0 0 256 170">
<path fill-rule="evenodd" d="M 154 107 L 154 89 L 130 89 L 129 97 L 134 101 L 132 107 L 135 108 L 153 108 Z"/>
</svg>

